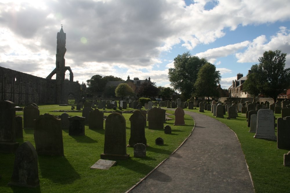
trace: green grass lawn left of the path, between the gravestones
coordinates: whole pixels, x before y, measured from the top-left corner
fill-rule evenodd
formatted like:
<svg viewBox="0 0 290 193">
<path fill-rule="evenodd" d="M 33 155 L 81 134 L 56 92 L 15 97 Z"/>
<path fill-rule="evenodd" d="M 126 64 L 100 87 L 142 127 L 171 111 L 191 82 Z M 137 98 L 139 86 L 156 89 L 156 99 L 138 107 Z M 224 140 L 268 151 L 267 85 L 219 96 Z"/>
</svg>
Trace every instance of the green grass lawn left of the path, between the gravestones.
<svg viewBox="0 0 290 193">
<path fill-rule="evenodd" d="M 50 113 L 60 115 L 53 110 L 70 110 L 70 106 L 40 105 L 41 114 Z M 133 109 L 127 109 L 133 110 Z M 173 111 L 167 111 L 173 114 Z M 81 113 L 68 113 L 69 115 L 79 115 Z M 17 112 L 17 115 L 23 115 Z M 105 113 L 109 115 L 109 113 Z M 130 121 L 132 114 L 124 113 L 126 119 L 126 140 L 130 138 Z M 174 118 L 174 115 L 169 116 Z M 130 158 L 117 161 L 116 166 L 109 170 L 92 170 L 92 166 L 100 154 L 104 152 L 105 130 L 91 130 L 85 126 L 85 136 L 69 136 L 68 130 L 63 130 L 64 157 L 60 156 L 38 156 L 39 181 L 38 188 L 9 187 L 13 171 L 14 154 L 0 153 L 0 192 L 125 192 L 140 179 L 145 177 L 160 162 L 168 158 L 169 155 L 189 136 L 193 129 L 194 121 L 192 117 L 185 115 L 185 126 L 174 126 L 174 120 L 167 121 L 166 124 L 172 128 L 172 134 L 166 135 L 163 130 L 149 130 L 148 122 L 145 128 L 147 139 L 146 157 L 134 158 L 133 148 L 127 147 L 127 154 Z M 105 127 L 104 127 L 105 128 Z M 17 139 L 19 143 L 30 141 L 33 146 L 34 130 L 23 130 L 23 139 Z M 164 145 L 155 145 L 155 139 L 162 137 Z"/>
</svg>

